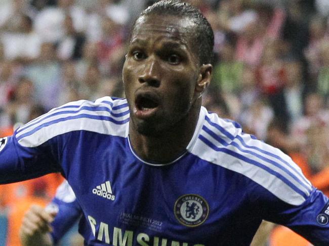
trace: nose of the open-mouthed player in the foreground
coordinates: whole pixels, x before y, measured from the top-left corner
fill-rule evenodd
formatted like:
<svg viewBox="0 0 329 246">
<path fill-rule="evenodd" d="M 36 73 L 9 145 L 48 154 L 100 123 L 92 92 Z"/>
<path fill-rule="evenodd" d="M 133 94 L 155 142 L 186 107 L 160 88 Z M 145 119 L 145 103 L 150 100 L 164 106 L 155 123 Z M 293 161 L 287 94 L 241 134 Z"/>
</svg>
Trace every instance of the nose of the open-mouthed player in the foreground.
<svg viewBox="0 0 329 246">
<path fill-rule="evenodd" d="M 138 77 L 138 81 L 140 83 L 148 83 L 154 87 L 160 86 L 158 63 L 154 58 L 149 57 L 147 59 L 143 74 Z"/>
</svg>

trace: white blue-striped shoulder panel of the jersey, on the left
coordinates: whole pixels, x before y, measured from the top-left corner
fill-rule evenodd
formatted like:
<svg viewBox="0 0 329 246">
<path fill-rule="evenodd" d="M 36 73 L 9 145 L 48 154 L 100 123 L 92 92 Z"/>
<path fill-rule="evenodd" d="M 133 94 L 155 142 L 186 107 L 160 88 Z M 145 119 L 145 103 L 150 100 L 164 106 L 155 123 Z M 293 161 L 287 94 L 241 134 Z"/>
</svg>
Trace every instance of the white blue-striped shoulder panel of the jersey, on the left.
<svg viewBox="0 0 329 246">
<path fill-rule="evenodd" d="M 35 147 L 72 131 L 126 136 L 129 108 L 125 99 L 102 97 L 95 102 L 80 100 L 54 108 L 17 129 L 17 141 Z"/>
</svg>

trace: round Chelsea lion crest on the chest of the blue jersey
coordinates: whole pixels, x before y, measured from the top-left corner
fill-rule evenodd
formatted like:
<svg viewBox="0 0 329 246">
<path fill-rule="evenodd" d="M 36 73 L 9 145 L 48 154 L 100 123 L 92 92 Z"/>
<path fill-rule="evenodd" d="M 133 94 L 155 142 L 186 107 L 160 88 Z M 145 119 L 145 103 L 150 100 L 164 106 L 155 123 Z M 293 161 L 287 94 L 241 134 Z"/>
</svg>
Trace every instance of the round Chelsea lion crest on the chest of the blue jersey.
<svg viewBox="0 0 329 246">
<path fill-rule="evenodd" d="M 185 194 L 177 199 L 174 212 L 176 219 L 183 225 L 195 227 L 201 225 L 209 214 L 208 203 L 197 194 Z"/>
</svg>

